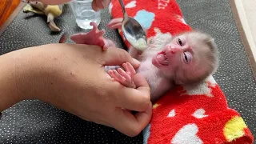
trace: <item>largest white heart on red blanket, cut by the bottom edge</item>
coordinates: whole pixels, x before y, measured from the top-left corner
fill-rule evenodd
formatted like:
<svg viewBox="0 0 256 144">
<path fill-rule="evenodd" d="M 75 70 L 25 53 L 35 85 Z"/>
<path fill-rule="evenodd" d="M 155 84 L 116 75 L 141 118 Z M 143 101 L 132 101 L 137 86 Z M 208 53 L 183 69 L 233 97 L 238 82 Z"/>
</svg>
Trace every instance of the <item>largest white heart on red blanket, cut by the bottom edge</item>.
<svg viewBox="0 0 256 144">
<path fill-rule="evenodd" d="M 187 124 L 175 134 L 170 142 L 171 144 L 202 144 L 202 140 L 198 138 L 198 126 L 196 124 Z"/>
</svg>

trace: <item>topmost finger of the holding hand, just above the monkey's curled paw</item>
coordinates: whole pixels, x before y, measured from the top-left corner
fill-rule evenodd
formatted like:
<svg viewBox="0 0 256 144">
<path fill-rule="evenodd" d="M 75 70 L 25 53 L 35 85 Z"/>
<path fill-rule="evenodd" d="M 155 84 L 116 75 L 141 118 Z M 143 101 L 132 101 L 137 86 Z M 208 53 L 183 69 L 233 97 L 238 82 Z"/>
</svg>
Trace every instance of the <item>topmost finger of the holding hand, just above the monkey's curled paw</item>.
<svg viewBox="0 0 256 144">
<path fill-rule="evenodd" d="M 130 64 L 134 66 L 134 69 L 137 69 L 140 65 L 138 60 L 132 58 L 126 50 L 120 48 L 111 47 L 102 55 L 102 65 L 122 66 L 123 63 L 130 62 Z"/>
</svg>

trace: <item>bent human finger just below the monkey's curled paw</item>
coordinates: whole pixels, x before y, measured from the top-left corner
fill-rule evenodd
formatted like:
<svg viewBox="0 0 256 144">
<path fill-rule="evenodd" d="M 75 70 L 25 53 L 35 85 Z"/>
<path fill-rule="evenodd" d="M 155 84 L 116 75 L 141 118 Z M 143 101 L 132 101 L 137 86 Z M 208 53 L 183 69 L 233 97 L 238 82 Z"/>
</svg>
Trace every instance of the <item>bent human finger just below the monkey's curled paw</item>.
<svg viewBox="0 0 256 144">
<path fill-rule="evenodd" d="M 145 111 L 150 104 L 150 86 L 140 74 L 132 77 L 137 89 L 118 86 L 115 91 L 115 106 L 128 110 Z"/>
</svg>

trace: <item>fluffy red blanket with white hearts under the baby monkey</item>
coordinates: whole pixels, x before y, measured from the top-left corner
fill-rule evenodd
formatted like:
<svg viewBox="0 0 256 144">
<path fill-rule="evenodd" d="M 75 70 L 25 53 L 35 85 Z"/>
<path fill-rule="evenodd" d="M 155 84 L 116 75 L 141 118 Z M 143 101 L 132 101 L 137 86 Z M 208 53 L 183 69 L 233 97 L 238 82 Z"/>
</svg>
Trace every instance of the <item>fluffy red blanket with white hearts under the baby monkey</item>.
<svg viewBox="0 0 256 144">
<path fill-rule="evenodd" d="M 127 14 L 147 30 L 147 38 L 161 42 L 192 28 L 186 24 L 175 0 L 123 0 Z M 118 0 L 110 3 L 112 18 L 122 18 Z M 126 46 L 130 44 L 119 30 Z M 160 45 L 159 45 L 160 46 Z M 144 143 L 201 144 L 254 142 L 236 110 L 210 76 L 200 86 L 178 86 L 154 104 L 153 118 L 143 130 Z"/>
</svg>

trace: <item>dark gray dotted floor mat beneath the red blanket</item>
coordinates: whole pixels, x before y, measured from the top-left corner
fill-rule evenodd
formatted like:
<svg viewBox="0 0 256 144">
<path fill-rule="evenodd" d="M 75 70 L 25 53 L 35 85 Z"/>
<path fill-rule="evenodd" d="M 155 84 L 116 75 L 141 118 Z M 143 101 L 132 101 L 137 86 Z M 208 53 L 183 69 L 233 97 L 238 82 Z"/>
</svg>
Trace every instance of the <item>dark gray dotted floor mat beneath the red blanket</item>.
<svg viewBox="0 0 256 144">
<path fill-rule="evenodd" d="M 214 74 L 231 108 L 238 110 L 256 135 L 256 85 L 250 64 L 230 4 L 226 0 L 178 0 L 186 22 L 194 29 L 203 30 L 216 38 L 221 53 L 221 65 Z M 80 29 L 67 6 L 58 26 L 70 34 Z M 30 15 L 30 17 L 28 17 Z M 102 11 L 101 28 L 110 21 Z M 62 32 L 62 33 L 63 33 Z M 107 30 L 106 36 L 124 46 L 116 30 Z M 60 34 L 50 34 L 46 18 L 23 14 L 10 24 L 0 36 L 0 54 L 27 46 L 58 42 Z M 69 42 L 71 42 L 69 40 Z M 4 111 L 0 122 L 0 143 L 142 143 L 142 135 L 129 138 L 106 126 L 67 114 L 39 101 L 23 101 Z"/>
</svg>

